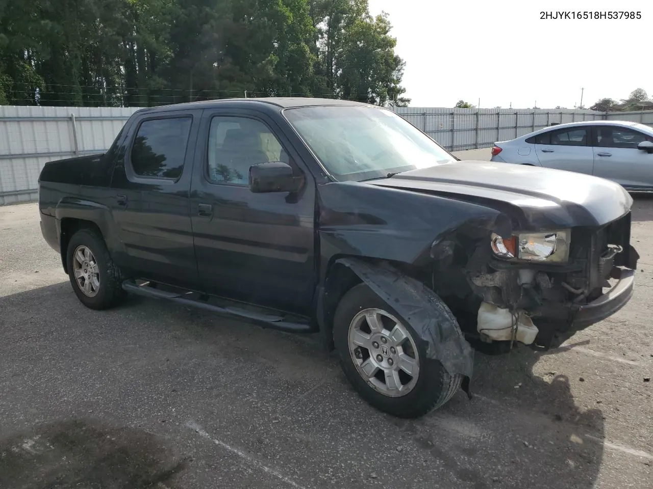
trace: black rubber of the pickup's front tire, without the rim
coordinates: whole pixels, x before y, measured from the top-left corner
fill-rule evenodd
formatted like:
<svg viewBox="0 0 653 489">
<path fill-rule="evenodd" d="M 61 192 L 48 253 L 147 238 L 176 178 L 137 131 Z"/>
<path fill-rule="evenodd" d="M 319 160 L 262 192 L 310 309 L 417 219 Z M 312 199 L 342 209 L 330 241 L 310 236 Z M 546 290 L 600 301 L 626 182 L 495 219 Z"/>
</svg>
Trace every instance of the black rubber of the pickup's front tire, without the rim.
<svg viewBox="0 0 653 489">
<path fill-rule="evenodd" d="M 389 397 L 376 391 L 363 379 L 351 359 L 349 353 L 349 325 L 351 319 L 362 309 L 378 308 L 385 310 L 399 319 L 417 346 L 419 355 L 419 377 L 413 390 L 405 396 Z M 340 357 L 345 376 L 358 393 L 372 406 L 398 417 L 417 417 L 432 409 L 445 389 L 447 374 L 442 364 L 426 358 L 426 342 L 416 333 L 415 329 L 394 308 L 376 295 L 366 284 L 359 284 L 350 289 L 338 304 L 334 316 L 334 343 Z"/>
</svg>

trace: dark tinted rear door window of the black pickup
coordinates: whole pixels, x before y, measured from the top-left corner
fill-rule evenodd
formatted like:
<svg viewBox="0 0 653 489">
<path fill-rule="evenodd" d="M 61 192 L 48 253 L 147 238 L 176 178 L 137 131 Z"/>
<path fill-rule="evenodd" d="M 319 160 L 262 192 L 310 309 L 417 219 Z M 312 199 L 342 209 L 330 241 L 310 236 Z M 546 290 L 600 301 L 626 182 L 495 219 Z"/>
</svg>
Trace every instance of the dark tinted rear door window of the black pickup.
<svg viewBox="0 0 653 489">
<path fill-rule="evenodd" d="M 144 121 L 131 147 L 131 166 L 136 175 L 178 179 L 191 121 L 191 117 Z"/>
</svg>

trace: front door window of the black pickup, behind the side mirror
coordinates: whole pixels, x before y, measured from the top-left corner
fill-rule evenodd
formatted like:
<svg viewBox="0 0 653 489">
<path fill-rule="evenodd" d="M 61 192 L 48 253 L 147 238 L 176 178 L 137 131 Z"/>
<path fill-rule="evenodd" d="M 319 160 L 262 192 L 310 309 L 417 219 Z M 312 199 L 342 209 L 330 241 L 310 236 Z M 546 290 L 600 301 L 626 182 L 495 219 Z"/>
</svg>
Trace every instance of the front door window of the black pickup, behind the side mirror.
<svg viewBox="0 0 653 489">
<path fill-rule="evenodd" d="M 208 135 L 208 177 L 215 183 L 248 184 L 249 167 L 290 158 L 268 126 L 246 117 L 214 117 Z"/>
</svg>

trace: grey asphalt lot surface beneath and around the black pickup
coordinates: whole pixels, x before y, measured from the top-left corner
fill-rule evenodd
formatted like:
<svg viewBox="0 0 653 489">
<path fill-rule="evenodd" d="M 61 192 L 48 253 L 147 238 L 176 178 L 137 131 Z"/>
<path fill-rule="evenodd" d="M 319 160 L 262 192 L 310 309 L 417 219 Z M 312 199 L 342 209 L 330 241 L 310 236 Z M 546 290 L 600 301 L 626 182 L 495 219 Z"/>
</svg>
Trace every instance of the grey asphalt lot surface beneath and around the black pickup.
<svg viewBox="0 0 653 489">
<path fill-rule="evenodd" d="M 624 310 L 547 354 L 477 354 L 419 420 L 375 411 L 293 336 L 76 299 L 35 204 L 0 207 L 0 488 L 650 488 L 653 199 Z"/>
</svg>

